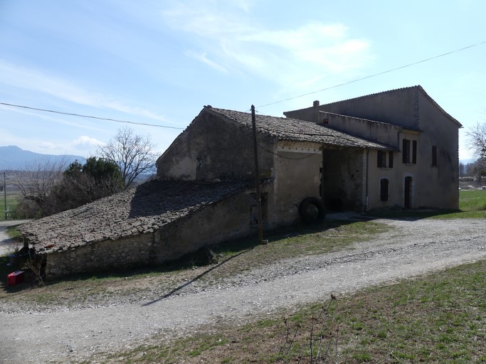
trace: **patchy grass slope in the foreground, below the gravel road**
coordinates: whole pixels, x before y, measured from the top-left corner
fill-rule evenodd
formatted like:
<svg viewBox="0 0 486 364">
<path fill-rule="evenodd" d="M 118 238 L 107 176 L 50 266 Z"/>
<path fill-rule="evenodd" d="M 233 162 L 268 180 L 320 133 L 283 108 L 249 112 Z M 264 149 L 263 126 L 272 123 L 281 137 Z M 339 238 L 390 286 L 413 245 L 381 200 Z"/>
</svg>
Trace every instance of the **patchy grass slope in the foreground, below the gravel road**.
<svg viewBox="0 0 486 364">
<path fill-rule="evenodd" d="M 206 327 L 201 333 L 170 342 L 155 337 L 146 345 L 115 355 L 95 355 L 93 360 L 486 363 L 485 291 L 483 260 L 302 306 L 254 323 Z"/>
</svg>

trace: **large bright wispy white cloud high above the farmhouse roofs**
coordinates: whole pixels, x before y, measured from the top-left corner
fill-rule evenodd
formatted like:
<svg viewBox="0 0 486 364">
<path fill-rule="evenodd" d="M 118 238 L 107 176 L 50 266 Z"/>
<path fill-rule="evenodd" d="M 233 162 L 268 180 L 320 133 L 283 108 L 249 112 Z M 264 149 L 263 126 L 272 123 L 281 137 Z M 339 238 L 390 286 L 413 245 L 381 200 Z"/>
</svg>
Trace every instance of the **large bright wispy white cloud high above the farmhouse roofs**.
<svg viewBox="0 0 486 364">
<path fill-rule="evenodd" d="M 255 73 L 295 90 L 299 84 L 316 87 L 324 78 L 349 80 L 373 60 L 369 41 L 353 37 L 342 23 L 270 29 L 246 14 L 251 4 L 245 1 L 171 4 L 163 13 L 166 23 L 196 39 L 186 55 L 221 72 Z"/>
</svg>

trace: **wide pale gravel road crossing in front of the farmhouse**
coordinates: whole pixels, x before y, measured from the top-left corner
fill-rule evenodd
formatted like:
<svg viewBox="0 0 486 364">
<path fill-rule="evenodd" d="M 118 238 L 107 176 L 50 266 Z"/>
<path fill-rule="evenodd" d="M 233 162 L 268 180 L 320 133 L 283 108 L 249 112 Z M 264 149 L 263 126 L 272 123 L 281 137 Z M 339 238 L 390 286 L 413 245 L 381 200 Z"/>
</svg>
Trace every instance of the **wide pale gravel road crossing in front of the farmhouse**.
<svg viewBox="0 0 486 364">
<path fill-rule="evenodd" d="M 247 321 L 295 304 L 486 258 L 486 220 L 378 220 L 394 227 L 352 250 L 276 262 L 218 287 L 188 285 L 136 304 L 11 312 L 0 306 L 0 362 L 81 360 L 157 333 Z"/>
</svg>

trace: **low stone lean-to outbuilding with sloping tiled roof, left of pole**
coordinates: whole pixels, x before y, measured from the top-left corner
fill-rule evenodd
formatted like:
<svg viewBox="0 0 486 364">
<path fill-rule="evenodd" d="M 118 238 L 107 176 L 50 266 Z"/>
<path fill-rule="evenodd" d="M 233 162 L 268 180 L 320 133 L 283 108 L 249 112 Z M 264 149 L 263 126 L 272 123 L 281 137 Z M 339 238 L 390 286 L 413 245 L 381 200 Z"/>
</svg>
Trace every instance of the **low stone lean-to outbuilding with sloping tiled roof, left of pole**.
<svg viewBox="0 0 486 364">
<path fill-rule="evenodd" d="M 154 265 L 248 235 L 245 183 L 149 181 L 19 230 L 47 277 Z"/>
</svg>

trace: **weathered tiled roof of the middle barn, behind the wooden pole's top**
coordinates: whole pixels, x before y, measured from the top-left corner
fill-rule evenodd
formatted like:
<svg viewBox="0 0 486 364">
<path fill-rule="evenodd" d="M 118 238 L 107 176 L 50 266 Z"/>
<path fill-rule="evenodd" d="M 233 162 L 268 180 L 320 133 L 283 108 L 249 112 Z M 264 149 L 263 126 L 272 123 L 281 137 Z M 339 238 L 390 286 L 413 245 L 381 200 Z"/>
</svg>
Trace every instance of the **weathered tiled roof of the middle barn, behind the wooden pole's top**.
<svg viewBox="0 0 486 364">
<path fill-rule="evenodd" d="M 206 107 L 205 109 L 215 114 L 223 115 L 244 127 L 252 127 L 251 114 L 248 112 L 216 109 L 214 107 Z M 352 135 L 304 120 L 256 114 L 255 124 L 258 132 L 268 134 L 282 141 L 310 141 L 328 146 L 344 146 L 347 148 L 391 149 L 390 146 L 353 137 Z"/>
</svg>

